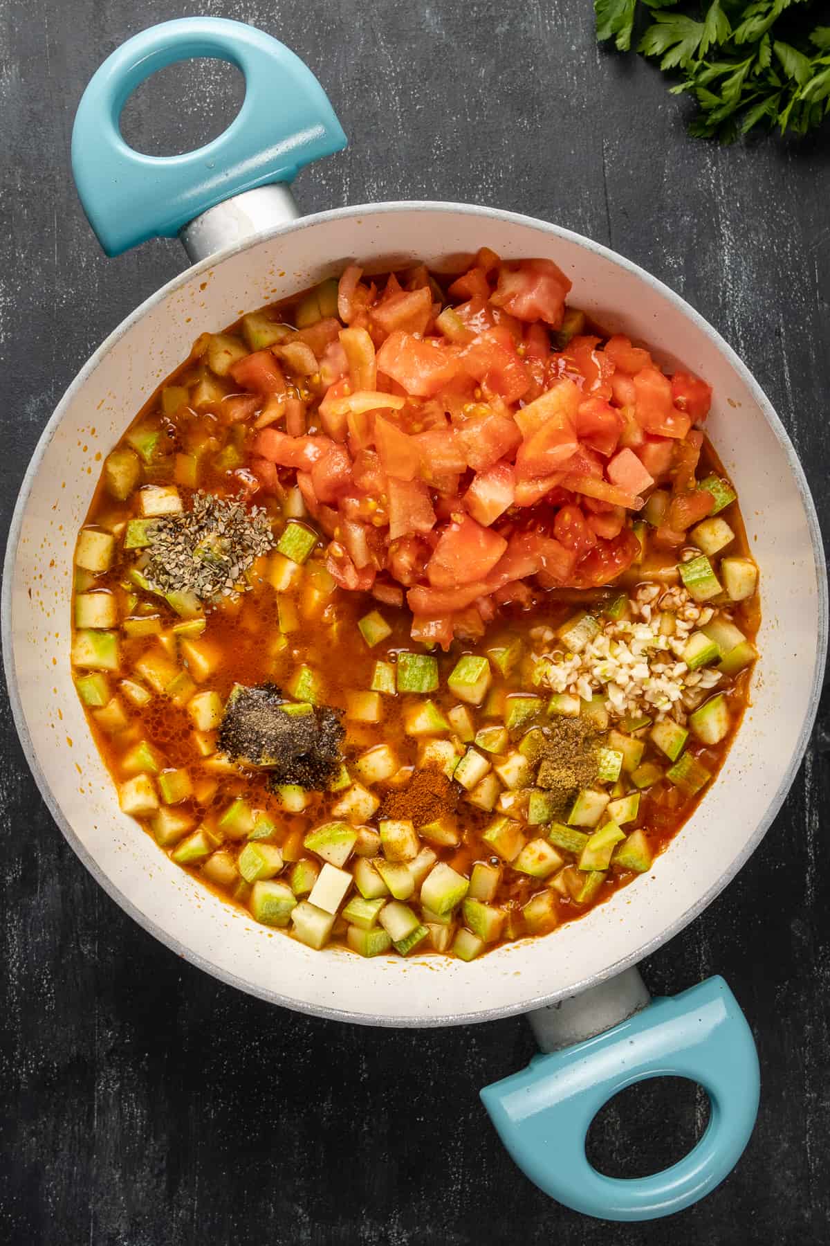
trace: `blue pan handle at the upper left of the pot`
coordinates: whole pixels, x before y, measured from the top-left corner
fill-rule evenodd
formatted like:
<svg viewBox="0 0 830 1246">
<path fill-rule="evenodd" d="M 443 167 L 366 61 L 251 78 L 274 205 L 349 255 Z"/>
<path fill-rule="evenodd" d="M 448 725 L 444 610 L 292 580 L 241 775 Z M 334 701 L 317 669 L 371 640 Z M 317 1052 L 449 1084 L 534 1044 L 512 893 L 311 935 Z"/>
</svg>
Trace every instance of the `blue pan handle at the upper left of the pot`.
<svg viewBox="0 0 830 1246">
<path fill-rule="evenodd" d="M 230 61 L 245 100 L 224 133 L 182 156 L 144 156 L 118 126 L 131 93 L 157 70 L 193 56 Z M 72 172 L 83 211 L 108 255 L 173 238 L 223 199 L 290 182 L 346 146 L 311 70 L 284 44 L 240 21 L 180 17 L 134 35 L 95 74 L 75 117 Z"/>
</svg>

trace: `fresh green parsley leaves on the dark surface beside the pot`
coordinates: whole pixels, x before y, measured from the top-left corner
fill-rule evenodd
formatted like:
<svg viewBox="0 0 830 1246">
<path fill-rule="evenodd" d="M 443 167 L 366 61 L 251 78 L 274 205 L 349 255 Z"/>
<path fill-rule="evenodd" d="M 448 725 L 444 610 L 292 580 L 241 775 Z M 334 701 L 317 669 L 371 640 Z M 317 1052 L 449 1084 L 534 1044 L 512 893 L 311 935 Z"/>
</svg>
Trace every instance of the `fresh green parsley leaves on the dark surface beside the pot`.
<svg viewBox="0 0 830 1246">
<path fill-rule="evenodd" d="M 830 26 L 815 22 L 826 0 L 594 0 L 596 37 L 660 57 L 681 75 L 698 112 L 689 132 L 730 142 L 755 126 L 804 135 L 830 113 Z M 786 36 L 786 37 L 785 37 Z"/>
</svg>

